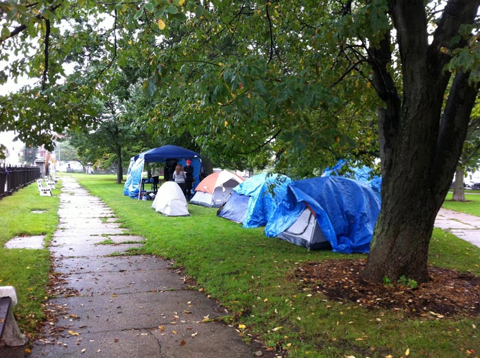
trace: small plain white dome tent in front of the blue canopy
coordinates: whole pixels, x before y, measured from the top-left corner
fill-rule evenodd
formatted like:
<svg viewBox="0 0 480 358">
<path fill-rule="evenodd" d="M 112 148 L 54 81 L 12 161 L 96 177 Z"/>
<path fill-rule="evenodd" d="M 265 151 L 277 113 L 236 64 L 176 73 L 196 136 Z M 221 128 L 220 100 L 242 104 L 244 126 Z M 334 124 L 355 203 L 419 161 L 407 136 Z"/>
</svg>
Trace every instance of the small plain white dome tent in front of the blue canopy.
<svg viewBox="0 0 480 358">
<path fill-rule="evenodd" d="M 155 196 L 152 207 L 165 216 L 189 216 L 187 199 L 175 181 L 165 181 Z"/>
</svg>

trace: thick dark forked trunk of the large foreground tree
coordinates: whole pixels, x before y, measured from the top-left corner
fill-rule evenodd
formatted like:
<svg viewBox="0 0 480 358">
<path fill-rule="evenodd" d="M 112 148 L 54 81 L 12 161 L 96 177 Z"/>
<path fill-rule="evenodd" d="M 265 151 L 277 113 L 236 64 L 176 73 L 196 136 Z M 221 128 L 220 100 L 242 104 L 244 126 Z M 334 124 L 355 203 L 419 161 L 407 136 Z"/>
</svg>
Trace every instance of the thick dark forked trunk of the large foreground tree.
<svg viewBox="0 0 480 358">
<path fill-rule="evenodd" d="M 471 23 L 479 0 L 448 1 L 429 44 L 422 1 L 389 1 L 402 62 L 400 98 L 390 75 L 389 36 L 371 49 L 379 109 L 382 207 L 363 277 L 382 282 L 405 275 L 429 279 L 427 255 L 433 225 L 453 179 L 477 89 L 457 71 L 442 116 L 450 58 L 442 53 L 461 23 Z"/>
</svg>

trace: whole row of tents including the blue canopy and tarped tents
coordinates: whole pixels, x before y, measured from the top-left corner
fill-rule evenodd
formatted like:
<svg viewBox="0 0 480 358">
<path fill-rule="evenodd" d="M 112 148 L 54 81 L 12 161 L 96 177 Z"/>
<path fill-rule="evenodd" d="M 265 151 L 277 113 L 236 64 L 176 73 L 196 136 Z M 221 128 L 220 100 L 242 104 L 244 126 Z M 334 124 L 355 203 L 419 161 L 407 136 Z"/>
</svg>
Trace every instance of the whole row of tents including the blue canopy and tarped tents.
<svg viewBox="0 0 480 358">
<path fill-rule="evenodd" d="M 368 253 L 381 207 L 379 180 L 331 176 L 335 175 L 333 168 L 324 177 L 299 181 L 267 173 L 243 180 L 226 170 L 200 181 L 200 154 L 169 145 L 132 157 L 124 194 L 138 198 L 143 165 L 168 159 L 179 163 L 192 160 L 195 195 L 190 203 L 217 208 L 220 218 L 239 222 L 245 228 L 265 227 L 267 237 L 309 249 Z M 372 188 L 378 188 L 377 192 Z M 167 216 L 189 215 L 187 200 L 173 181 L 158 188 L 152 207 Z"/>
</svg>

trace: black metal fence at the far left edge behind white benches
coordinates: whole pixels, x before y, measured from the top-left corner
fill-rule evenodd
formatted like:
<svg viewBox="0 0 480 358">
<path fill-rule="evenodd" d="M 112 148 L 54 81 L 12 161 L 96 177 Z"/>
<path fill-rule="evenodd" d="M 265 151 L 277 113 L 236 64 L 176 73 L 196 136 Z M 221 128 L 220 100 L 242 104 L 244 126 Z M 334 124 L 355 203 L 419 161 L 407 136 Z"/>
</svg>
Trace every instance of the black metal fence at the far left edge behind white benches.
<svg viewBox="0 0 480 358">
<path fill-rule="evenodd" d="M 1 166 L 0 199 L 40 178 L 39 166 Z"/>
</svg>

